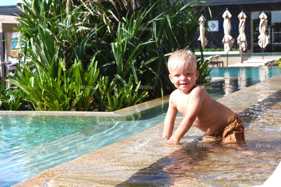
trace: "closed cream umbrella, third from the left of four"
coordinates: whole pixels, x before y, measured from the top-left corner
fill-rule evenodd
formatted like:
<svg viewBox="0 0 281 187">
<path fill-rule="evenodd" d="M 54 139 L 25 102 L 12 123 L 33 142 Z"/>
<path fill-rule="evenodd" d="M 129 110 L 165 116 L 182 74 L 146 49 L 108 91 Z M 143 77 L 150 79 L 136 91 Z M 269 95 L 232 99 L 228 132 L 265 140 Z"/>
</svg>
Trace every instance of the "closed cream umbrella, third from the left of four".
<svg viewBox="0 0 281 187">
<path fill-rule="evenodd" d="M 240 22 L 239 22 L 239 36 L 237 38 L 237 44 L 239 45 L 239 51 L 241 51 L 241 63 L 243 63 L 243 51 L 245 51 L 247 46 L 247 39 L 245 35 L 245 21 L 247 16 L 243 12 L 243 10 L 238 15 L 238 18 Z"/>
</svg>

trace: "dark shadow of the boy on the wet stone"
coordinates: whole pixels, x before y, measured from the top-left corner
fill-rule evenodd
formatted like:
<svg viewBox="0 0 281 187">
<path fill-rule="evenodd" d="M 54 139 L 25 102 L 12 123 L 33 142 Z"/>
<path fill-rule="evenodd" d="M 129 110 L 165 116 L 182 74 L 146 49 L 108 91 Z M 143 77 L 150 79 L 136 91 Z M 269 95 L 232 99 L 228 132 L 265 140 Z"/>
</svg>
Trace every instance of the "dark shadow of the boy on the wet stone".
<svg viewBox="0 0 281 187">
<path fill-rule="evenodd" d="M 198 148 L 194 144 L 186 145 L 174 153 L 158 160 L 152 165 L 140 169 L 127 181 L 117 186 L 167 186 L 174 179 L 191 171 L 198 162 L 206 159 L 206 153 L 210 148 Z"/>
</svg>

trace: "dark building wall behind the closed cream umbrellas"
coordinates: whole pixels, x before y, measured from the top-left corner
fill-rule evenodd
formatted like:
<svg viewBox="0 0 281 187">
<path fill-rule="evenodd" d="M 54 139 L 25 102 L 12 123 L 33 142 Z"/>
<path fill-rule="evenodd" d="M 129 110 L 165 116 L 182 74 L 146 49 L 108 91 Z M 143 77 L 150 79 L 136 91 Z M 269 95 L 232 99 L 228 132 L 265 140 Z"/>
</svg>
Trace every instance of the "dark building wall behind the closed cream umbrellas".
<svg viewBox="0 0 281 187">
<path fill-rule="evenodd" d="M 261 4 L 235 4 L 235 5 L 217 5 L 217 6 L 209 6 L 212 12 L 212 19 L 210 18 L 210 14 L 206 9 L 206 20 L 219 20 L 223 23 L 222 14 L 224 13 L 225 9 L 228 8 L 228 11 L 231 13 L 231 23 L 236 25 L 236 30 L 231 31 L 231 36 L 235 39 L 235 44 L 233 47 L 238 47 L 237 45 L 237 37 L 239 35 L 239 19 L 238 15 L 241 10 L 247 16 L 246 23 L 245 23 L 245 34 L 248 42 L 248 49 L 251 49 L 251 12 L 252 11 L 281 11 L 281 3 L 261 3 Z M 270 20 L 268 20 L 268 24 L 270 24 Z M 207 21 L 205 22 L 207 26 Z M 223 30 L 218 32 L 208 32 L 207 40 L 208 44 L 206 48 L 211 47 L 223 47 L 222 39 L 224 36 Z M 198 35 L 196 35 L 198 38 Z"/>
</svg>

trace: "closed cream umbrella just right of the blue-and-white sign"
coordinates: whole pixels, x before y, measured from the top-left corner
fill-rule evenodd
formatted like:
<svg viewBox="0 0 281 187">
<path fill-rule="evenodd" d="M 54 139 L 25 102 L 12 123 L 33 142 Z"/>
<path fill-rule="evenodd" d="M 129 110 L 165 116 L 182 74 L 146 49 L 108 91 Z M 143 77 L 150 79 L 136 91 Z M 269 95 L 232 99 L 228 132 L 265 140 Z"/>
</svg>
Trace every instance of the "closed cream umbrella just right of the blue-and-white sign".
<svg viewBox="0 0 281 187">
<path fill-rule="evenodd" d="M 228 52 L 231 50 L 235 39 L 232 38 L 232 36 L 230 36 L 230 31 L 231 31 L 231 22 L 230 22 L 230 18 L 231 18 L 231 14 L 228 11 L 228 8 L 226 9 L 226 11 L 223 13 L 222 17 L 225 19 L 223 21 L 223 29 L 224 29 L 224 33 L 225 36 L 222 39 L 222 44 L 224 45 L 224 49 L 227 55 L 227 66 L 228 66 Z"/>
</svg>

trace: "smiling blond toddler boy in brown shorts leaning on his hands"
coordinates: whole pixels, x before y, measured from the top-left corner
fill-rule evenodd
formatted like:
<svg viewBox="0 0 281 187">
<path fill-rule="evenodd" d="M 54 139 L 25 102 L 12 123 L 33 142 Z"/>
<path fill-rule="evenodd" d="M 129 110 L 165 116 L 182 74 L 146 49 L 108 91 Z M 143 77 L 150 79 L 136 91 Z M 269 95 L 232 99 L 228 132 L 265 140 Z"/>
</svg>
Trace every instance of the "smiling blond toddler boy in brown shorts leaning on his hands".
<svg viewBox="0 0 281 187">
<path fill-rule="evenodd" d="M 199 76 L 196 62 L 189 50 L 175 51 L 169 57 L 169 79 L 177 89 L 169 98 L 162 138 L 169 138 L 168 143 L 178 143 L 193 125 L 225 143 L 244 141 L 240 117 L 195 84 Z M 183 114 L 184 119 L 172 135 L 177 112 Z"/>
</svg>

